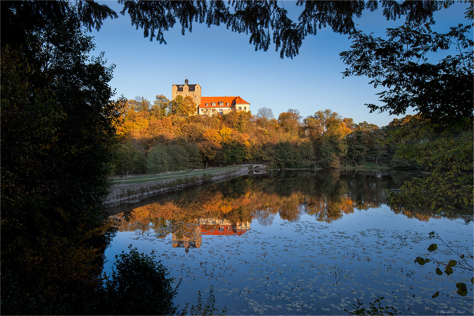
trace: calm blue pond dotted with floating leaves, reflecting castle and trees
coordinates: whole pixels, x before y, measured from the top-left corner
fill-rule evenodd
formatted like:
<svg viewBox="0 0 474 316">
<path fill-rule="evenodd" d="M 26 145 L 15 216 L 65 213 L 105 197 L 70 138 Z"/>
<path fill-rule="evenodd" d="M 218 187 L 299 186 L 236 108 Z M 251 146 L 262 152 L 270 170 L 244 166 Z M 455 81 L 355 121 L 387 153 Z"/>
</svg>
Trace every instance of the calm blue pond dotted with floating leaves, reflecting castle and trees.
<svg viewBox="0 0 474 316">
<path fill-rule="evenodd" d="M 182 279 L 174 300 L 181 307 L 212 286 L 216 308 L 228 315 L 347 315 L 356 299 L 368 304 L 377 296 L 403 315 L 472 315 L 472 301 L 431 298 L 456 295 L 456 283 L 470 284 L 472 271 L 438 276 L 435 263 L 414 263 L 427 257 L 429 244 L 439 245 L 431 231 L 471 256 L 472 210 L 441 215 L 385 205 L 385 190 L 411 176 L 422 175 L 251 173 L 122 204 L 109 210 L 117 233 L 105 271 L 133 244 L 154 250 L 170 276 Z M 456 259 L 442 246 L 433 256 Z"/>
</svg>

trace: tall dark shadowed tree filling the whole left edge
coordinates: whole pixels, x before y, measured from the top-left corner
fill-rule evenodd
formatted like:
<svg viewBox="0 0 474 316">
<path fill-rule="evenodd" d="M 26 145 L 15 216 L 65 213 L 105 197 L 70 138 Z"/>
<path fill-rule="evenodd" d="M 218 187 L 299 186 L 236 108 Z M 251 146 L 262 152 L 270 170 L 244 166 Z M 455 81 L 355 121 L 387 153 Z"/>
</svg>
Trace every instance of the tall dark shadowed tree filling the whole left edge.
<svg viewBox="0 0 474 316">
<path fill-rule="evenodd" d="M 118 104 L 114 66 L 89 57 L 82 27 L 113 14 L 96 3 L 0 5 L 2 314 L 91 313 Z"/>
</svg>

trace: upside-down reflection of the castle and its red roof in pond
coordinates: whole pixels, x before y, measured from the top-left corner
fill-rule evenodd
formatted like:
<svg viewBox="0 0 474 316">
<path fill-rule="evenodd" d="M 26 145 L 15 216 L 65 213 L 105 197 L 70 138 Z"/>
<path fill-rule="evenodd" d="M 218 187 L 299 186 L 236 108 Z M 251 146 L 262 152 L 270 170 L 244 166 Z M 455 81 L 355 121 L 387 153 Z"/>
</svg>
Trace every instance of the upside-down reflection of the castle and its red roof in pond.
<svg viewBox="0 0 474 316">
<path fill-rule="evenodd" d="M 173 248 L 199 248 L 202 244 L 202 235 L 242 235 L 250 230 L 250 223 L 231 223 L 226 218 L 201 218 L 195 220 L 195 226 L 191 234 L 172 234 Z"/>
</svg>

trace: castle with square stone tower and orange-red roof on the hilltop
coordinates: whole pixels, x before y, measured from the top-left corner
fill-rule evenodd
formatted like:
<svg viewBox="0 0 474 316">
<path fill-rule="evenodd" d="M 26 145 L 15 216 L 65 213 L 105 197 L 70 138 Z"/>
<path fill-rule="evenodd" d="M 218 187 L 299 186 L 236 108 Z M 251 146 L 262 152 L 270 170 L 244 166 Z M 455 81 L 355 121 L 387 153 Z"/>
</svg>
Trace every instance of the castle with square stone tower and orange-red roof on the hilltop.
<svg viewBox="0 0 474 316">
<path fill-rule="evenodd" d="M 176 96 L 182 95 L 183 98 L 191 96 L 196 104 L 195 114 L 214 114 L 220 115 L 229 111 L 250 111 L 250 103 L 238 97 L 201 97 L 201 86 L 199 84 L 173 84 L 171 87 L 171 100 Z"/>
</svg>

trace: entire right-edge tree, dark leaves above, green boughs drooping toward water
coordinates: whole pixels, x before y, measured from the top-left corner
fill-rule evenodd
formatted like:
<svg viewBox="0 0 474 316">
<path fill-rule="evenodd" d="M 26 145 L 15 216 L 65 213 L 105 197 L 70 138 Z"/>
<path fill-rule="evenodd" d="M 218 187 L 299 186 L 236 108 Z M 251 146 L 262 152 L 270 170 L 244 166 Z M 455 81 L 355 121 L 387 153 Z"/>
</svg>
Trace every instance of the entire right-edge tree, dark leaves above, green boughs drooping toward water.
<svg viewBox="0 0 474 316">
<path fill-rule="evenodd" d="M 449 5 L 449 3 L 446 3 Z M 469 2 L 466 19 L 473 19 Z M 389 136 L 397 154 L 428 169 L 424 179 L 407 181 L 392 191 L 392 203 L 407 206 L 430 203 L 432 208 L 473 205 L 473 40 L 468 36 L 473 24 L 459 24 L 441 34 L 430 23 L 405 23 L 387 29 L 388 39 L 357 31 L 351 35 L 351 50 L 341 53 L 349 68 L 346 76 L 365 75 L 369 83 L 387 90 L 378 93 L 383 106 L 368 104 L 372 111 L 404 114 L 418 112 Z M 454 47 L 439 63 L 428 55 Z M 426 135 L 438 135 L 423 141 Z"/>
</svg>

